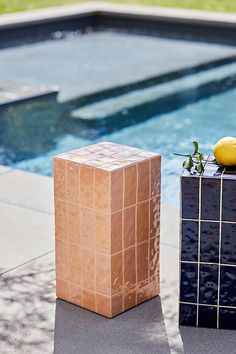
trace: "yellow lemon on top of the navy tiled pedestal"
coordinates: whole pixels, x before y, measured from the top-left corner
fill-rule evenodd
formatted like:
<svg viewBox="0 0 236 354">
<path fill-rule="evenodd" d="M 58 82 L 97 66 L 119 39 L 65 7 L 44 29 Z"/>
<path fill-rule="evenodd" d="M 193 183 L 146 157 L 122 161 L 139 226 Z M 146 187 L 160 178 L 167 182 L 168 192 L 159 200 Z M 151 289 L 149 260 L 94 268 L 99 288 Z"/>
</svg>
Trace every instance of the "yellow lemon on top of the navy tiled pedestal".
<svg viewBox="0 0 236 354">
<path fill-rule="evenodd" d="M 236 166 L 236 138 L 227 136 L 220 139 L 214 147 L 216 160 L 224 166 Z"/>
</svg>

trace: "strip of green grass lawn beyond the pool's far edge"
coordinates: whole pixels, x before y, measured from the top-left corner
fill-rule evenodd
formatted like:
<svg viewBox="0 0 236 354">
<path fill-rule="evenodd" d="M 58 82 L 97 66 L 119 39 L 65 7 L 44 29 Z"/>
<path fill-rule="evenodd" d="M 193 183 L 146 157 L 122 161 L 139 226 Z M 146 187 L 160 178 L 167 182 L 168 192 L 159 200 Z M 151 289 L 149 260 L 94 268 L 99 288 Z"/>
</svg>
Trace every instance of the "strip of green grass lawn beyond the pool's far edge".
<svg viewBox="0 0 236 354">
<path fill-rule="evenodd" d="M 0 14 L 79 3 L 82 1 L 83 0 L 0 0 Z M 236 12 L 236 0 L 111 0 L 110 2 Z"/>
</svg>

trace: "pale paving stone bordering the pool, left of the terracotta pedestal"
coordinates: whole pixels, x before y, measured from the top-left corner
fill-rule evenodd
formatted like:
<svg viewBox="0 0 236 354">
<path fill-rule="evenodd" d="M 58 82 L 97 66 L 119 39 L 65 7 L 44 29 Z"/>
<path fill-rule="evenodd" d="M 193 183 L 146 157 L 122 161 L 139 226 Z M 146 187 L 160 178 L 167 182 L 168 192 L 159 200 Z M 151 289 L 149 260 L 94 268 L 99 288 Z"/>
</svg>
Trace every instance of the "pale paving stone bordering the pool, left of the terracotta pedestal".
<svg viewBox="0 0 236 354">
<path fill-rule="evenodd" d="M 0 174 L 0 201 L 53 214 L 53 179 L 20 170 Z"/>
</svg>

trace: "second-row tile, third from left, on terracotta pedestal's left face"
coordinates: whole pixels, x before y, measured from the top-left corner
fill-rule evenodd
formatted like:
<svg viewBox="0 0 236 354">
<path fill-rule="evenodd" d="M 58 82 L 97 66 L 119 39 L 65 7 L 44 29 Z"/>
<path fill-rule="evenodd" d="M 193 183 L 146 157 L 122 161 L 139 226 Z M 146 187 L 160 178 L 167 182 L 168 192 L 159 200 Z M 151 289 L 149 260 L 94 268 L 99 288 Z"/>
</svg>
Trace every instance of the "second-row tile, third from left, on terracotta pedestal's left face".
<svg viewBox="0 0 236 354">
<path fill-rule="evenodd" d="M 83 247 L 94 250 L 95 246 L 95 212 L 80 208 L 80 237 Z"/>
</svg>

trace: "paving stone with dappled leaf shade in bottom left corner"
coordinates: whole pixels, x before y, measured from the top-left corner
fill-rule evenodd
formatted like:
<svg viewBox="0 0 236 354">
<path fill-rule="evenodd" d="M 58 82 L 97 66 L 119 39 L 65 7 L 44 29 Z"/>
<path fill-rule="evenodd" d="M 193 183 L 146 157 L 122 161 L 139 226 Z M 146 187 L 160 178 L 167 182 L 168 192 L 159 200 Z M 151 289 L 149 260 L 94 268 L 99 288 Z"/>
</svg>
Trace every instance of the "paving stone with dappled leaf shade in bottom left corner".
<svg viewBox="0 0 236 354">
<path fill-rule="evenodd" d="M 0 353 L 52 353 L 55 321 L 53 255 L 0 277 L 0 288 Z"/>
</svg>

